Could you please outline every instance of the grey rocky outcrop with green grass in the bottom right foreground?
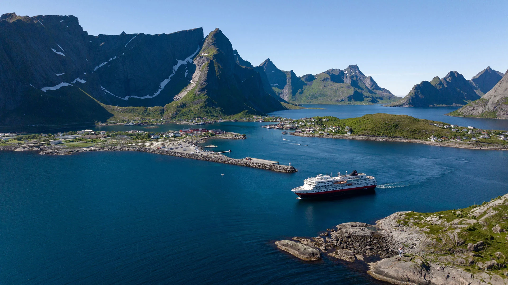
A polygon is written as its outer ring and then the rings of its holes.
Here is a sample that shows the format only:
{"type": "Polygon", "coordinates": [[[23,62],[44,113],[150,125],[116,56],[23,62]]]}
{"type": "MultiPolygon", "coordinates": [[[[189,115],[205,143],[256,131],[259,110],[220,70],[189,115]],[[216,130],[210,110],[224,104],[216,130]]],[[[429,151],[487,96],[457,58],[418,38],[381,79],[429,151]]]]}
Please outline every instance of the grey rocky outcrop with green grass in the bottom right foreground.
{"type": "Polygon", "coordinates": [[[459,210],[400,211],[375,225],[343,223],[275,244],[306,261],[363,263],[372,277],[393,284],[505,285],[507,232],[508,194],[459,210]]]}

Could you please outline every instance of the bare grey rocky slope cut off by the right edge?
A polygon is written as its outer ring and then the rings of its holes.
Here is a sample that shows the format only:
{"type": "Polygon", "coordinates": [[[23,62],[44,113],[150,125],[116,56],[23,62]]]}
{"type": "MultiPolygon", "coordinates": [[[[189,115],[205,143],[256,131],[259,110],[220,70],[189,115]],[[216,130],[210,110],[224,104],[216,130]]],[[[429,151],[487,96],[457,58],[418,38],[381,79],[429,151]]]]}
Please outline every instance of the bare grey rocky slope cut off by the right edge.
{"type": "Polygon", "coordinates": [[[448,115],[508,119],[508,70],[482,98],[470,102],[448,115]]]}

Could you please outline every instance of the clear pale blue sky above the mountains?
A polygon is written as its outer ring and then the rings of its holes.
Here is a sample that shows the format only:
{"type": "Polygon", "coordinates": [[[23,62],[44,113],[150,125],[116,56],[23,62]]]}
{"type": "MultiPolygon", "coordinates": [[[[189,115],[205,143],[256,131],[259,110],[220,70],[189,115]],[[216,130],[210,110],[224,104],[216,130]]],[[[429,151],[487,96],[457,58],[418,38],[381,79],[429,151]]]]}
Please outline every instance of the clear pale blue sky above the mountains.
{"type": "Polygon", "coordinates": [[[252,64],[270,58],[298,75],[358,64],[405,96],[457,70],[508,69],[508,1],[31,1],[0,13],[74,15],[90,34],[220,28],[252,64]]]}

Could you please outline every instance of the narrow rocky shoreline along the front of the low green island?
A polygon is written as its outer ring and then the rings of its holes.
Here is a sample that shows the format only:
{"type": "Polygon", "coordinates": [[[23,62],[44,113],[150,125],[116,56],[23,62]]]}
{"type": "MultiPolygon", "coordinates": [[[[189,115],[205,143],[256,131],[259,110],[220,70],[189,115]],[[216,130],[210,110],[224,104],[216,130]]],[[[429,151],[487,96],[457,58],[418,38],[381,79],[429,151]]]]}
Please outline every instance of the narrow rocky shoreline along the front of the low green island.
{"type": "Polygon", "coordinates": [[[312,134],[312,133],[295,133],[292,135],[306,136],[306,137],[324,137],[324,138],[342,138],[342,139],[358,139],[358,140],[376,140],[376,141],[399,141],[399,142],[416,142],[418,144],[426,144],[431,146],[440,147],[452,147],[452,148],[463,148],[463,149],[474,149],[474,150],[508,150],[508,146],[503,145],[489,145],[481,144],[478,142],[459,142],[456,140],[446,141],[432,141],[430,139],[419,139],[419,138],[395,138],[395,137],[378,137],[378,136],[355,136],[345,134],[312,134]]]}

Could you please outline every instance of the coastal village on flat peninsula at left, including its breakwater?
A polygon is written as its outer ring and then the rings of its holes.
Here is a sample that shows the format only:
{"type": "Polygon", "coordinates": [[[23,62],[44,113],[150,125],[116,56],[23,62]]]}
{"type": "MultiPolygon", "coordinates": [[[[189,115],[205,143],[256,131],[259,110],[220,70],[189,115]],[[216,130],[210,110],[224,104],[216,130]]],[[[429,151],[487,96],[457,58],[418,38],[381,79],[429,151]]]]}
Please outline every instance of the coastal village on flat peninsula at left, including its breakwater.
{"type": "MultiPolygon", "coordinates": [[[[198,120],[201,118],[197,118],[198,120]]],[[[206,119],[206,118],[204,118],[206,119]]],[[[130,125],[124,123],[123,125],[130,125]]],[[[184,122],[185,125],[204,125],[204,122],[184,122]]],[[[183,122],[180,124],[183,125],[183,122]]],[[[158,127],[152,124],[145,128],[158,127]]],[[[156,154],[208,160],[213,162],[236,164],[264,168],[280,172],[295,172],[290,165],[281,165],[278,161],[244,157],[234,159],[225,156],[231,150],[214,150],[217,146],[200,145],[209,138],[245,139],[245,134],[228,132],[221,129],[197,127],[181,128],[174,131],[150,132],[146,130],[94,131],[84,129],[68,132],[15,134],[0,133],[0,149],[13,151],[38,151],[47,155],[67,155],[90,151],[141,151],[156,154]]]]}

